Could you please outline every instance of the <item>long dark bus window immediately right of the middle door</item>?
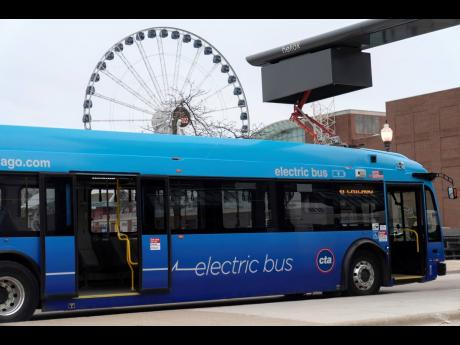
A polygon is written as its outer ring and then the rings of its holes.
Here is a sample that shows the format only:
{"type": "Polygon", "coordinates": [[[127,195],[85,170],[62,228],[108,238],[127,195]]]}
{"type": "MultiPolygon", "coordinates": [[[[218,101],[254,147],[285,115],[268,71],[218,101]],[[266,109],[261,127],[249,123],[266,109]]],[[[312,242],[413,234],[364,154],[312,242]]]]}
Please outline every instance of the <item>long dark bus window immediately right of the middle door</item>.
{"type": "Polygon", "coordinates": [[[272,227],[268,184],[231,180],[171,182],[175,233],[264,232],[272,227]]]}

